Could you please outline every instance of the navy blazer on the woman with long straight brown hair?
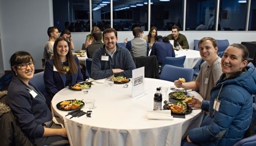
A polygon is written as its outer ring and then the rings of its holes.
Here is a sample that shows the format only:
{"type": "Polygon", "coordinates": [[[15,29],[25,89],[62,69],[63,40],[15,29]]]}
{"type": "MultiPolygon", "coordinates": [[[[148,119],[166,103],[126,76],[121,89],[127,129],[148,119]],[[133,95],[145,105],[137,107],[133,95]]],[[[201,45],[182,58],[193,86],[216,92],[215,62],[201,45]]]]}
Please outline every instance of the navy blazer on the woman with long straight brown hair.
{"type": "MultiPolygon", "coordinates": [[[[83,81],[79,60],[76,56],[74,56],[74,59],[77,63],[78,70],[76,74],[71,75],[72,76],[71,84],[75,84],[83,81]]],[[[53,98],[53,96],[59,90],[63,89],[66,85],[66,75],[60,74],[57,70],[56,71],[53,70],[53,66],[54,66],[53,64],[54,64],[53,59],[47,60],[46,66],[45,66],[45,72],[44,72],[44,81],[46,85],[46,90],[51,98],[53,98]]]]}

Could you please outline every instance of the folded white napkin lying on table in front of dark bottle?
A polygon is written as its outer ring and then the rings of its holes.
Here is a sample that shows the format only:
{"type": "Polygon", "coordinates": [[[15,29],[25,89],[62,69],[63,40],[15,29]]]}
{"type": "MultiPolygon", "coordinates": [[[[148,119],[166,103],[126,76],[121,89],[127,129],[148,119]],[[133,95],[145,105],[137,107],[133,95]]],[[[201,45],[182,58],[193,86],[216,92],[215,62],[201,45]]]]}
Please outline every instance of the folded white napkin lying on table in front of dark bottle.
{"type": "Polygon", "coordinates": [[[170,110],[154,110],[146,112],[147,119],[174,119],[170,110]]]}

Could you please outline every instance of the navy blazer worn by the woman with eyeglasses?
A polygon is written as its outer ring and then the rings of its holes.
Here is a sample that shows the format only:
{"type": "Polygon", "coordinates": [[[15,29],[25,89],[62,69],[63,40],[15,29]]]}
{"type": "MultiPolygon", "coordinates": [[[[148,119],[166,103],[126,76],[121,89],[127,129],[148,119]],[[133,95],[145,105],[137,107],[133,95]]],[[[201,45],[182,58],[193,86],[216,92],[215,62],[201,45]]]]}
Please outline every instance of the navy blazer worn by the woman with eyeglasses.
{"type": "Polygon", "coordinates": [[[50,121],[52,114],[47,107],[45,97],[36,89],[38,94],[33,98],[30,90],[25,83],[14,76],[8,88],[6,102],[17,117],[23,132],[30,138],[42,137],[44,134],[42,124],[50,121]]]}

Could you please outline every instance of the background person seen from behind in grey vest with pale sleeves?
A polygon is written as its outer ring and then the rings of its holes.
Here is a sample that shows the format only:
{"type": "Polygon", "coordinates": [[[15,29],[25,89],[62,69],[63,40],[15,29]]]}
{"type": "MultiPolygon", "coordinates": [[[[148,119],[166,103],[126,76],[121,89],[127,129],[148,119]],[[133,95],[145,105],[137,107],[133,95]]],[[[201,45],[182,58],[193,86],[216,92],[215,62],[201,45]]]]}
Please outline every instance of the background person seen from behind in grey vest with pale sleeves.
{"type": "Polygon", "coordinates": [[[130,41],[127,41],[127,38],[124,39],[124,43],[126,43],[125,47],[131,52],[132,57],[148,56],[150,46],[148,42],[142,38],[143,31],[140,27],[133,29],[133,36],[134,39],[130,41]]]}

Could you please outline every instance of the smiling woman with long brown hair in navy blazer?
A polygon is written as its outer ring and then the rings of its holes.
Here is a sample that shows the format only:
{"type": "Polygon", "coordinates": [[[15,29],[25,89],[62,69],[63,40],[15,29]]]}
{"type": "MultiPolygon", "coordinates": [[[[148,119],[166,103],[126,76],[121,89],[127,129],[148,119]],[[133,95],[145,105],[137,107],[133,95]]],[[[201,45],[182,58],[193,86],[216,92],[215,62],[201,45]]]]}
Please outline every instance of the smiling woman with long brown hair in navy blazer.
{"type": "Polygon", "coordinates": [[[79,60],[72,55],[66,38],[59,37],[55,40],[53,59],[46,62],[44,81],[50,98],[66,86],[83,81],[79,60]]]}

